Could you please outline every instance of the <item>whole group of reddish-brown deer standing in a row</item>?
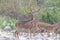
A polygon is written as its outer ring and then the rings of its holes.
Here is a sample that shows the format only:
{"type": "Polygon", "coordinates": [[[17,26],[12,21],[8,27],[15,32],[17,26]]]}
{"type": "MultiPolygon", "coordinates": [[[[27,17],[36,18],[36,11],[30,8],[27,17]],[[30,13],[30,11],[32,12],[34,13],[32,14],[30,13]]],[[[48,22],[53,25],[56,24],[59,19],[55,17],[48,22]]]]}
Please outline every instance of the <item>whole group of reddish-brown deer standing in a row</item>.
{"type": "Polygon", "coordinates": [[[41,32],[55,32],[60,33],[60,24],[48,24],[44,22],[40,22],[35,17],[33,17],[33,11],[29,13],[29,20],[26,21],[17,21],[15,35],[19,36],[20,32],[30,32],[30,33],[41,33],[41,32]]]}

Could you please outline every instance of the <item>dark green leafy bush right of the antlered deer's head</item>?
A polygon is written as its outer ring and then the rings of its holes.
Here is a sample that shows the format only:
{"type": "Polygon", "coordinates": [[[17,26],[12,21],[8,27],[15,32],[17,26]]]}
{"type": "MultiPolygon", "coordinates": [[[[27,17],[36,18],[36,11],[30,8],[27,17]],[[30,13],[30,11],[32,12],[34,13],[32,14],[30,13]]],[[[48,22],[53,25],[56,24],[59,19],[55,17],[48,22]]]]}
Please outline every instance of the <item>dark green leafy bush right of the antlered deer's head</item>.
{"type": "Polygon", "coordinates": [[[40,21],[53,24],[54,22],[60,22],[60,11],[53,7],[50,11],[45,9],[36,16],[40,21]]]}

